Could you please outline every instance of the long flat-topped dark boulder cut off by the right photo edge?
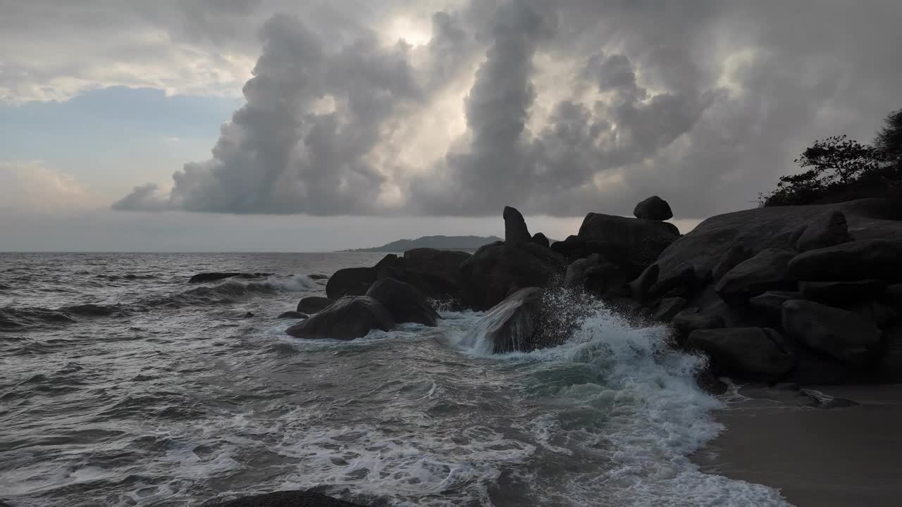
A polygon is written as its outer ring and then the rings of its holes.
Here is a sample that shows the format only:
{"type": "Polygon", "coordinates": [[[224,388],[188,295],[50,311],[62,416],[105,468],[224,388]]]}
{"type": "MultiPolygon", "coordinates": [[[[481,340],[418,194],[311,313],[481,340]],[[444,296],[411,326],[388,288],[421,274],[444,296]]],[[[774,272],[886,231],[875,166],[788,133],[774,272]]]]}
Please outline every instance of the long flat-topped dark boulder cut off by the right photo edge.
{"type": "Polygon", "coordinates": [[[789,273],[804,281],[902,281],[902,240],[861,239],[799,253],[789,273]]]}

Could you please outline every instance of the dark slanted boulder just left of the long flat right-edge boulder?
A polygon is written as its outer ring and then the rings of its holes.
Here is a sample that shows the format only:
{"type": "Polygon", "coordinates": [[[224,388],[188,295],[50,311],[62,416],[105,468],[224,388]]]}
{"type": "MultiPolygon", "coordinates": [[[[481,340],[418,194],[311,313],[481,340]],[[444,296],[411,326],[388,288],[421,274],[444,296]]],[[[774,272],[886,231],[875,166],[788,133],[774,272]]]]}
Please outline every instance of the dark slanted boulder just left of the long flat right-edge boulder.
{"type": "Polygon", "coordinates": [[[768,290],[792,285],[787,279],[787,264],[795,256],[791,250],[768,248],[723,275],[715,290],[729,304],[744,304],[768,290]]]}

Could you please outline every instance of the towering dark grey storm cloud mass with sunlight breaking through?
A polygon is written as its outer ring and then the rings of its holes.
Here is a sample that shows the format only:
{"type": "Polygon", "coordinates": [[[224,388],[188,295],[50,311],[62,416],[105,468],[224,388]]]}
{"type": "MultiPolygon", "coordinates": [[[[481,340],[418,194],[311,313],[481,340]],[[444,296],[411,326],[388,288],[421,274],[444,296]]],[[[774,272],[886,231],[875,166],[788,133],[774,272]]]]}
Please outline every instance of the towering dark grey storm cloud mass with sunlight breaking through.
{"type": "MultiPolygon", "coordinates": [[[[571,217],[658,194],[706,217],[899,107],[897,2],[474,1],[386,38],[424,8],[272,15],[211,158],[114,207],[571,217]]],[[[205,43],[244,33],[211,20],[205,43]]]]}

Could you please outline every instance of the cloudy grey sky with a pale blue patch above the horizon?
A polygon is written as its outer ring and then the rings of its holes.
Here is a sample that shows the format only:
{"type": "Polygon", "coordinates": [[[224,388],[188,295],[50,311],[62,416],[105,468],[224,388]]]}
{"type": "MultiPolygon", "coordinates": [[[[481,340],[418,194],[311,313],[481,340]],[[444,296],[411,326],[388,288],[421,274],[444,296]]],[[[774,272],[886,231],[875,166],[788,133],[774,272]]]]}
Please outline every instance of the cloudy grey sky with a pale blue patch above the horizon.
{"type": "Polygon", "coordinates": [[[330,251],[756,206],[902,107],[897,0],[0,0],[0,251],[330,251]]]}

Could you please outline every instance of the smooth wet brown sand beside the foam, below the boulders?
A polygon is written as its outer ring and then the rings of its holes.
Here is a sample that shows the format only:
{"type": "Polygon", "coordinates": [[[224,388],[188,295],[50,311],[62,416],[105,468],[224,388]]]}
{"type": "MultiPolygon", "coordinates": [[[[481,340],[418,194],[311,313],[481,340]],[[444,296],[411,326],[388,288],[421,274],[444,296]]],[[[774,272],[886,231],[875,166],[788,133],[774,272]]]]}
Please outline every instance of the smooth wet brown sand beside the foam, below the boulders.
{"type": "Polygon", "coordinates": [[[815,389],[860,405],[816,408],[795,391],[742,390],[751,399],[717,414],[726,429],[693,460],[778,488],[797,507],[902,505],[902,385],[815,389]]]}

